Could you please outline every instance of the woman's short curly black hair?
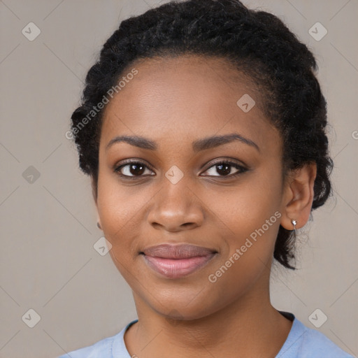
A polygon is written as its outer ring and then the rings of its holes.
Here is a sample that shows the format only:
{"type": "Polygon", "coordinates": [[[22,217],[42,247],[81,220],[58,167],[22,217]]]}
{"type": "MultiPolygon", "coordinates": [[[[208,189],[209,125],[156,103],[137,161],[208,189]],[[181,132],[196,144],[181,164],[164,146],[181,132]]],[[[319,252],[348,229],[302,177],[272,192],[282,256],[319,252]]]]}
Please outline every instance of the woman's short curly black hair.
{"type": "MultiPolygon", "coordinates": [[[[123,20],[104,43],[99,61],[87,73],[80,106],[71,116],[80,169],[92,177],[95,187],[104,110],[94,112],[96,105],[136,60],[186,54],[227,59],[252,80],[262,96],[264,115],[282,136],[282,178],[315,163],[312,210],[322,206],[331,194],[333,162],[326,136],[327,103],[315,77],[315,57],[278,17],[250,10],[239,0],[170,1],[123,20]]],[[[280,226],[273,257],[293,270],[294,243],[294,231],[280,226]]]]}

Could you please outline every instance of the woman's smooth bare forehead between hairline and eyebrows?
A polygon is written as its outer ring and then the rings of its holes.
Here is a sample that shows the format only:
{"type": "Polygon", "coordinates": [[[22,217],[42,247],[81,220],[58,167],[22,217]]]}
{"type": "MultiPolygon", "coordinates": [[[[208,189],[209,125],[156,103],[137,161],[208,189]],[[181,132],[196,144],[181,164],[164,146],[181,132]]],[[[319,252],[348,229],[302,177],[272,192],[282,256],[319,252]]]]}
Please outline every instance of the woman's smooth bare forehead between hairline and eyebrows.
{"type": "Polygon", "coordinates": [[[269,131],[275,131],[260,110],[262,99],[250,78],[224,59],[141,59],[121,78],[133,69],[138,73],[127,78],[103,113],[101,146],[120,134],[173,143],[236,131],[263,142],[269,131]],[[238,106],[241,98],[252,99],[255,105],[245,112],[238,106]]]}

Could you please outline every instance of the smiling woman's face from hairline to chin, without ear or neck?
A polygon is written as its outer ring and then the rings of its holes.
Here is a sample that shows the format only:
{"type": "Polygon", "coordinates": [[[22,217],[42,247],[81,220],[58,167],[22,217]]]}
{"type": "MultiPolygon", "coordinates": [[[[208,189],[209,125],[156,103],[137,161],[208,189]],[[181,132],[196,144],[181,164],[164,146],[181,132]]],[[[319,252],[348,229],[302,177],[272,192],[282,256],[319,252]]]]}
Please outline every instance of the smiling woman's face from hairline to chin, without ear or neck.
{"type": "Polygon", "coordinates": [[[138,73],[103,116],[96,206],[136,303],[194,319],[266,299],[284,191],[282,142],[259,110],[261,99],[223,60],[146,59],[133,67],[138,73]],[[141,140],[108,146],[117,136],[141,140]],[[182,263],[143,255],[163,243],[215,253],[182,263]]]}

